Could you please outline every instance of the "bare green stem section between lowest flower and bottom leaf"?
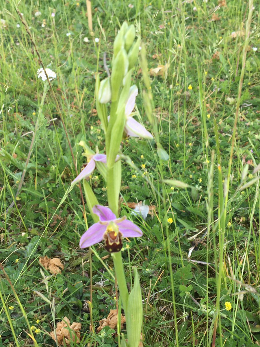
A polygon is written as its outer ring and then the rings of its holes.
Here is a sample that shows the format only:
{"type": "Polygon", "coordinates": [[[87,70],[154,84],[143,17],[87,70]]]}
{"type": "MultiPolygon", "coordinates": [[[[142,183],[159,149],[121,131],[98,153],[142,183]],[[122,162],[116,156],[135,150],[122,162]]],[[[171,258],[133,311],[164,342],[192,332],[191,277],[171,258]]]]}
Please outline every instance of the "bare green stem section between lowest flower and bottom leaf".
{"type": "Polygon", "coordinates": [[[124,276],[124,268],[123,268],[121,251],[112,253],[112,258],[114,261],[116,280],[118,281],[118,287],[119,287],[120,296],[123,303],[123,309],[124,309],[124,312],[127,312],[127,303],[128,303],[129,294],[127,289],[127,282],[125,281],[125,276],[124,276]]]}

